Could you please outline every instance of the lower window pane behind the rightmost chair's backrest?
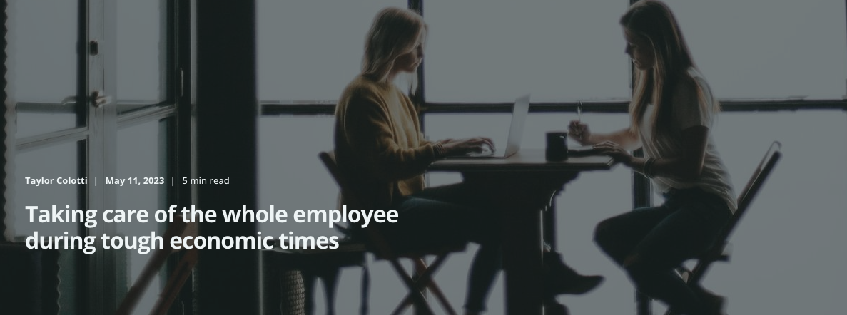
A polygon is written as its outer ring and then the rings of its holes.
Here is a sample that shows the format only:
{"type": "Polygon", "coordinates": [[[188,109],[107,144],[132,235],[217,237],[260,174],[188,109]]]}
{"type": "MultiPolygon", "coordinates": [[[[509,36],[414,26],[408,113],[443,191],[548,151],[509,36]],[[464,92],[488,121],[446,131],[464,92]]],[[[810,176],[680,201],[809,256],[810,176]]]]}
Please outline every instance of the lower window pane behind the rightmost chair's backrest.
{"type": "Polygon", "coordinates": [[[713,135],[736,191],[772,141],[783,158],[732,236],[732,261],[704,285],[729,296],[730,313],[840,312],[847,274],[833,270],[847,264],[838,250],[847,239],[847,114],[723,113],[718,123],[713,135]],[[786,128],[796,125],[804,127],[786,128]]]}

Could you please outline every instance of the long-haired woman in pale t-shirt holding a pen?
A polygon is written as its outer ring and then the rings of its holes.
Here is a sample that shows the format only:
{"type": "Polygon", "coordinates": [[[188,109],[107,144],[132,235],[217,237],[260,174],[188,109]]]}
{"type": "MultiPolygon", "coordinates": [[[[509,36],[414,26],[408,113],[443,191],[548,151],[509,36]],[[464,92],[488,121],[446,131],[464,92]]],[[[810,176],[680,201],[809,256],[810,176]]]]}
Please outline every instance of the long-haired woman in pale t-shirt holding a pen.
{"type": "Polygon", "coordinates": [[[634,3],[620,24],[636,76],[629,127],[595,134],[572,121],[568,128],[574,141],[645,174],[666,201],[607,218],[597,225],[595,242],[639,291],[677,312],[719,314],[721,296],[689,288],[673,270],[706,251],[736,208],[710,133],[719,104],[665,3],[634,3]],[[628,151],[639,147],[644,158],[628,151]]]}

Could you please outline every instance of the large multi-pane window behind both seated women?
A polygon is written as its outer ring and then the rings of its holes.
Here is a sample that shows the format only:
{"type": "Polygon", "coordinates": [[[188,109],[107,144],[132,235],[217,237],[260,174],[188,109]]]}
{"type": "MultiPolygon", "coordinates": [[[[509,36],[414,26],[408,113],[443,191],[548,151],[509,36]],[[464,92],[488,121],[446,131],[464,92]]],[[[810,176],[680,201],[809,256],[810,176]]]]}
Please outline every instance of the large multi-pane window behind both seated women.
{"type": "MultiPolygon", "coordinates": [[[[840,248],[839,240],[847,235],[833,224],[844,222],[847,201],[828,191],[847,187],[847,169],[839,166],[847,158],[844,2],[666,2],[695,62],[728,111],[713,135],[737,189],[771,141],[782,141],[785,154],[734,235],[733,262],[717,264],[706,286],[729,297],[728,312],[838,312],[839,296],[847,291],[836,284],[847,278],[832,270],[847,257],[831,249],[840,248]],[[833,145],[812,147],[817,141],[833,145]]],[[[353,9],[337,1],[332,2],[340,8],[335,11],[344,14],[327,18],[330,13],[303,8],[303,3],[260,1],[258,6],[259,98],[271,101],[263,103],[266,116],[260,130],[263,205],[335,205],[335,185],[315,157],[332,144],[332,119],[325,114],[332,113],[332,100],[358,72],[363,36],[374,14],[385,5],[406,6],[395,1],[353,9]],[[301,102],[286,107],[291,100],[301,102]],[[274,163],[280,159],[298,166],[274,163]]],[[[419,105],[430,139],[487,135],[505,140],[508,116],[501,103],[523,92],[531,92],[534,103],[523,147],[543,147],[544,131],[565,129],[575,118],[572,106],[577,101],[590,102],[583,120],[596,131],[628,124],[631,64],[617,20],[629,1],[408,3],[424,8],[429,25],[421,80],[424,103],[419,105]]],[[[430,185],[461,180],[456,174],[428,178],[430,185]]],[[[557,199],[558,247],[567,262],[585,274],[606,275],[606,283],[590,295],[560,298],[573,313],[634,312],[634,288],[591,240],[602,218],[633,207],[637,187],[632,178],[620,166],[580,174],[557,199]]],[[[470,258],[451,257],[437,275],[457,306],[464,299],[470,258]]],[[[382,301],[394,301],[399,294],[400,284],[380,267],[371,268],[372,296],[380,296],[371,300],[374,313],[390,312],[394,306],[382,301]]],[[[345,271],[340,292],[358,292],[358,276],[345,271]]],[[[501,295],[501,286],[492,291],[490,313],[503,312],[501,295]]],[[[341,293],[337,302],[339,309],[355,309],[358,297],[341,293]]],[[[659,303],[654,305],[655,312],[662,311],[659,303]]]]}

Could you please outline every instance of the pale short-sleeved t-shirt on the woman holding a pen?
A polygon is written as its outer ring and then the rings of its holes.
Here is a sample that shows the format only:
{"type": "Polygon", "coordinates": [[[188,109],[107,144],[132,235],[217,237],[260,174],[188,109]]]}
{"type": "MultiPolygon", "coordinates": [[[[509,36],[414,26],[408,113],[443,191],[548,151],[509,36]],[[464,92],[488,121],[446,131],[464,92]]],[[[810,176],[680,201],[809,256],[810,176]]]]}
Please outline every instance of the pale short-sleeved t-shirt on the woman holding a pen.
{"type": "MultiPolygon", "coordinates": [[[[668,158],[677,157],[684,150],[682,141],[682,131],[694,126],[706,126],[711,129],[714,113],[711,111],[711,90],[706,80],[702,75],[691,68],[688,71],[689,75],[694,78],[697,86],[703,91],[703,99],[697,96],[697,91],[692,90],[690,86],[679,84],[673,102],[666,104],[673,106],[673,122],[671,130],[672,135],[662,137],[662,139],[653,141],[652,139],[652,121],[656,114],[653,104],[647,106],[643,120],[639,128],[641,144],[644,147],[646,157],[668,158]],[[706,102],[706,106],[700,106],[699,102],[706,102]]],[[[738,205],[735,202],[735,192],[733,190],[732,181],[729,180],[729,174],[726,166],[723,165],[720,155],[715,148],[715,141],[711,137],[711,132],[706,142],[706,157],[703,160],[703,171],[700,178],[694,181],[678,180],[667,177],[656,176],[653,178],[653,186],[656,191],[667,192],[672,188],[686,189],[700,187],[703,191],[711,192],[717,196],[721,196],[726,200],[729,209],[735,212],[738,205]]]]}

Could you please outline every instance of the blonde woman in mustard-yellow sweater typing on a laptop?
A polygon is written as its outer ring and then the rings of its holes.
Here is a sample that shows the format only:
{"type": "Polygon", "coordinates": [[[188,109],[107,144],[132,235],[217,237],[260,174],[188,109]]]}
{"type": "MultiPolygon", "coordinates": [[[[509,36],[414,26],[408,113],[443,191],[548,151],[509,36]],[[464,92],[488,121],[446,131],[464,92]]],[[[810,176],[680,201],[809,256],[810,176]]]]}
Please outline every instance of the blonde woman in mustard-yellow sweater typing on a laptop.
{"type": "MultiPolygon", "coordinates": [[[[394,81],[398,75],[414,78],[424,58],[426,31],[424,19],[408,9],[385,8],[374,18],[362,73],[346,86],[335,108],[335,154],[340,171],[355,183],[353,193],[363,203],[358,208],[399,213],[398,222],[379,225],[391,246],[479,243],[465,303],[466,313],[478,314],[501,268],[497,205],[489,202],[491,191],[479,185],[424,189],[424,172],[439,158],[494,146],[484,137],[424,139],[416,108],[394,81]]],[[[557,279],[572,285],[562,293],[584,293],[601,280],[579,276],[561,262],[556,266],[567,271],[557,279]]]]}

